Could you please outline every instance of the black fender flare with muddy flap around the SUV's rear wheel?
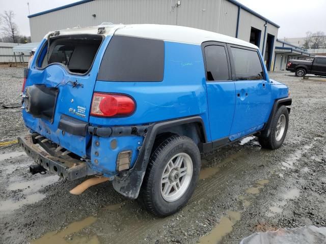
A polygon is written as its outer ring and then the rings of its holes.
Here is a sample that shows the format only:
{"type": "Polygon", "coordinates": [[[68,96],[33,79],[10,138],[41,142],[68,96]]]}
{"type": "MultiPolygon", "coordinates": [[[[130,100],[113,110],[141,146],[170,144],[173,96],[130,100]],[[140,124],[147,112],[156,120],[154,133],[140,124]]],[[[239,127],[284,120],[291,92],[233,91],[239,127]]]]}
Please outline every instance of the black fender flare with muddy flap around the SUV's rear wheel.
{"type": "Polygon", "coordinates": [[[204,139],[205,142],[207,142],[204,122],[200,116],[167,120],[149,125],[147,133],[144,134],[143,145],[140,147],[139,155],[133,167],[128,171],[122,172],[120,175],[117,175],[114,178],[113,188],[129,199],[138,198],[157,132],[159,132],[159,130],[166,129],[169,127],[191,123],[201,124],[204,131],[204,139]]]}

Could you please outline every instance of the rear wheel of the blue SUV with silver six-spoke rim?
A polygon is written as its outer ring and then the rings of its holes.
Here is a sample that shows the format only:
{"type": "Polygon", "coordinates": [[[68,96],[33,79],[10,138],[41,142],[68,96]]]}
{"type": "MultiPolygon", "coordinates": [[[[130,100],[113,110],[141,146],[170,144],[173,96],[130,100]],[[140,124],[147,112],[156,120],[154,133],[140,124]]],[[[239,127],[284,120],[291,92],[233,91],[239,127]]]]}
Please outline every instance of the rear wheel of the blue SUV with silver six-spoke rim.
{"type": "Polygon", "coordinates": [[[170,135],[162,140],[152,152],[141,189],[147,210],[158,217],[180,210],[194,193],[200,165],[200,152],[192,139],[170,135]]]}

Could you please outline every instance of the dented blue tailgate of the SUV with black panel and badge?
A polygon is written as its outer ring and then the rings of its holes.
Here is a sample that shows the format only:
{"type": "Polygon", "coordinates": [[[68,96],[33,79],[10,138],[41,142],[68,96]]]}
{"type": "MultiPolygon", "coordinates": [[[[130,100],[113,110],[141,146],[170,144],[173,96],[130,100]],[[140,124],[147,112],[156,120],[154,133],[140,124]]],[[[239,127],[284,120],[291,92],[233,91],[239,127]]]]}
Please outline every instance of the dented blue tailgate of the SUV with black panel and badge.
{"type": "Polygon", "coordinates": [[[88,124],[101,59],[97,53],[105,49],[103,40],[104,36],[95,34],[51,36],[44,40],[24,88],[25,125],[83,158],[89,157],[91,136],[59,125],[63,120],[72,121],[71,125],[88,124]]]}

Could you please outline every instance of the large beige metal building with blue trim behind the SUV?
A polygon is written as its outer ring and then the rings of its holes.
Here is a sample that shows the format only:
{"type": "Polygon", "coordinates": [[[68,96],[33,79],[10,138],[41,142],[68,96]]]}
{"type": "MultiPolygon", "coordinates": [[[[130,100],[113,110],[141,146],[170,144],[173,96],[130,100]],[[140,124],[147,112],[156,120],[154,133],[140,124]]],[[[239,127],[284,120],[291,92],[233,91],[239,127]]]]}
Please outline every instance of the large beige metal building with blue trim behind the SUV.
{"type": "Polygon", "coordinates": [[[102,22],[174,24],[236,37],[257,45],[273,70],[276,23],[234,0],[83,0],[28,16],[33,42],[49,31],[102,22]]]}

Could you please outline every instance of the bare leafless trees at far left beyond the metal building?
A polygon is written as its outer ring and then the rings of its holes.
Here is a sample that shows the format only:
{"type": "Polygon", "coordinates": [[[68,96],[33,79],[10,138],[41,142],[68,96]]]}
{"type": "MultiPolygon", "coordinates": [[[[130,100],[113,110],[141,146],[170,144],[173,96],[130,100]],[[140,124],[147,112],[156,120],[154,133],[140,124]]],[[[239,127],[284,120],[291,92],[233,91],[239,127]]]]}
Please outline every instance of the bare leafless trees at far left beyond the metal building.
{"type": "Polygon", "coordinates": [[[14,21],[15,14],[13,11],[5,11],[0,15],[0,42],[29,43],[31,37],[19,34],[19,29],[14,21]]]}

